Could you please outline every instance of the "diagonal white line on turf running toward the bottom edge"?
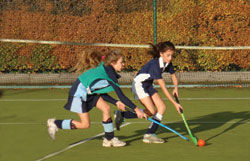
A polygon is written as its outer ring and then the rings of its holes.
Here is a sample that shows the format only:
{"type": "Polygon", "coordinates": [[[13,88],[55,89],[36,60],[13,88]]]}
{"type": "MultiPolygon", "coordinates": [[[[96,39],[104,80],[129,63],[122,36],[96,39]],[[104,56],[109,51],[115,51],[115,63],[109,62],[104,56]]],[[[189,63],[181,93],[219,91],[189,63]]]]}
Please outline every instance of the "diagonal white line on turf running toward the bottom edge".
{"type": "MultiPolygon", "coordinates": [[[[130,123],[123,124],[121,127],[127,126],[127,125],[129,125],[129,124],[130,124],[130,123]]],[[[95,138],[97,138],[97,137],[99,137],[99,136],[102,136],[102,135],[104,135],[104,132],[103,132],[103,133],[100,133],[100,134],[97,134],[97,135],[95,135],[95,136],[89,137],[89,138],[87,138],[87,139],[85,139],[85,140],[83,140],[83,141],[80,141],[80,142],[78,142],[78,143],[72,144],[72,145],[70,145],[70,146],[68,146],[68,147],[66,147],[66,148],[64,148],[64,149],[62,149],[62,150],[60,150],[60,151],[57,151],[57,152],[51,153],[51,154],[49,154],[49,155],[46,155],[46,156],[44,156],[44,157],[42,157],[42,158],[40,158],[40,159],[38,159],[38,160],[36,160],[36,161],[42,161],[42,160],[51,158],[51,157],[53,157],[53,156],[56,156],[56,155],[58,155],[58,154],[61,154],[61,153],[65,152],[65,151],[67,151],[67,150],[69,150],[69,149],[71,149],[71,148],[73,148],[73,147],[75,147],[75,146],[78,146],[78,145],[81,145],[81,144],[83,144],[83,143],[86,143],[87,141],[92,140],[92,139],[95,139],[95,138]]]]}

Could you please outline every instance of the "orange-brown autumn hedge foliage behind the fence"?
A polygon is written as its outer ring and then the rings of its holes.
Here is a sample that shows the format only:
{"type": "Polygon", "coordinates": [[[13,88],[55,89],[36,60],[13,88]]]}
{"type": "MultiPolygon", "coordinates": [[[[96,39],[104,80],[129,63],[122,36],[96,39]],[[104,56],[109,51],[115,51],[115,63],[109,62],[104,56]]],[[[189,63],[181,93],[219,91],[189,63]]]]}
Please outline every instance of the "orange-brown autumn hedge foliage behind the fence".
{"type": "MultiPolygon", "coordinates": [[[[170,40],[176,45],[193,46],[249,45],[246,36],[250,34],[249,5],[245,0],[157,2],[158,41],[170,40]]],[[[0,35],[1,38],[12,39],[147,44],[153,42],[152,5],[151,1],[142,3],[138,0],[2,2],[0,35]]],[[[10,68],[15,65],[15,69],[20,67],[22,71],[40,67],[34,65],[30,58],[31,53],[39,52],[51,54],[49,58],[53,60],[48,60],[50,69],[68,70],[77,61],[75,53],[81,52],[86,46],[50,45],[46,50],[37,50],[32,45],[10,48],[13,48],[13,54],[21,57],[18,60],[22,60],[23,65],[12,63],[12,66],[0,67],[1,71],[11,71],[10,68]],[[58,64],[51,65],[55,57],[58,64]]],[[[102,52],[110,49],[94,48],[102,52]]],[[[7,53],[5,47],[1,50],[7,53]]],[[[145,55],[146,49],[122,50],[127,69],[137,70],[151,58],[145,55]]],[[[250,69],[249,50],[178,50],[175,57],[174,63],[179,70],[231,70],[235,66],[250,69]]]]}

